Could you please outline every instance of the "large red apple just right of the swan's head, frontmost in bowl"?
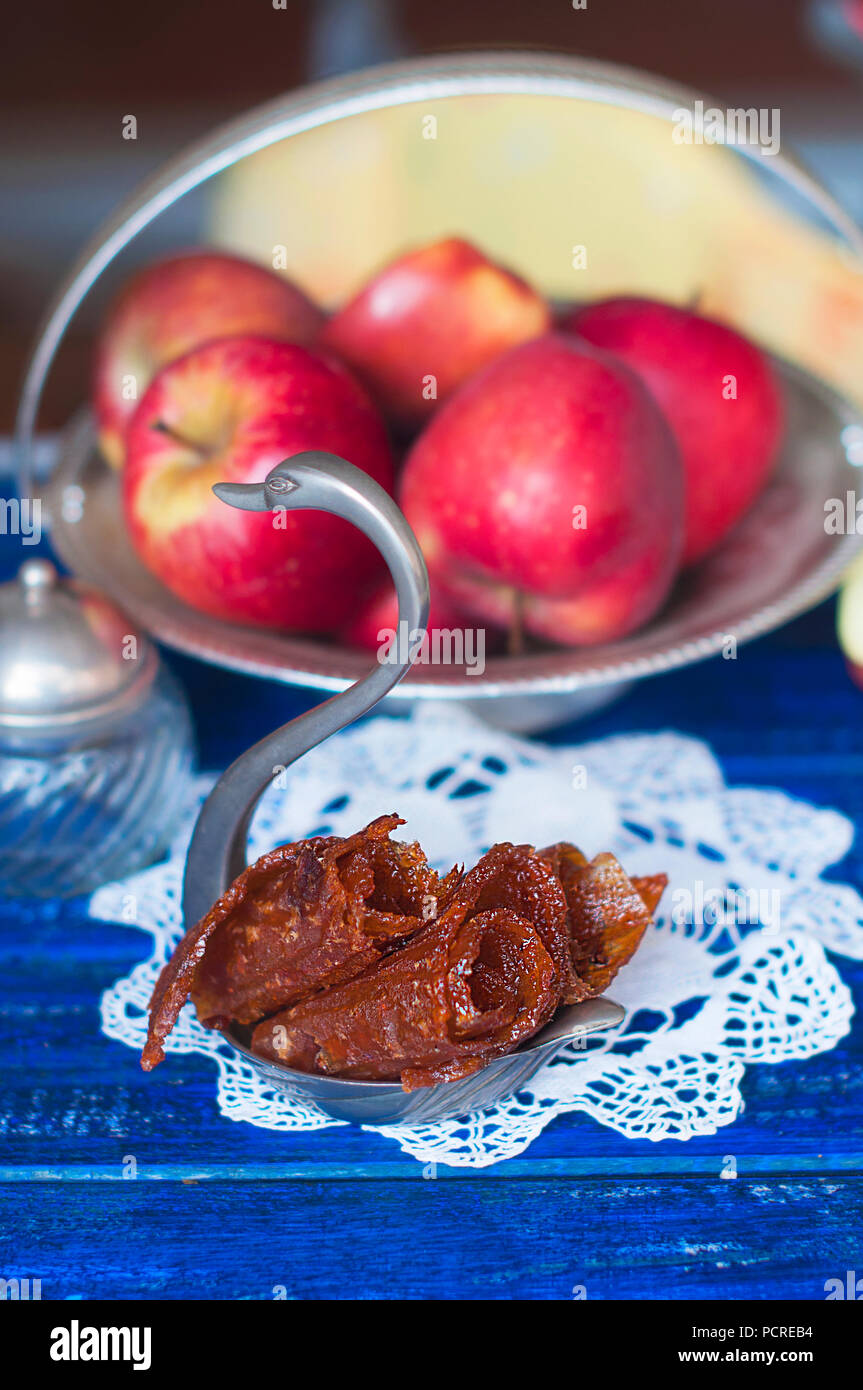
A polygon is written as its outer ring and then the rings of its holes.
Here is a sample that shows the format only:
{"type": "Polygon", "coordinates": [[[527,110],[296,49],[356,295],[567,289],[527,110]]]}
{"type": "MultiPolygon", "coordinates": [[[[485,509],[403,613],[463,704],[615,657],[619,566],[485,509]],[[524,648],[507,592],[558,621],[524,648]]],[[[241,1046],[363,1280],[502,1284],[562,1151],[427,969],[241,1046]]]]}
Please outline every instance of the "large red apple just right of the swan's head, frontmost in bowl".
{"type": "Polygon", "coordinates": [[[443,591],[500,626],[607,642],[656,613],[682,543],[682,468],[621,361],[549,334],[443,406],[413,446],[402,506],[443,591]]]}

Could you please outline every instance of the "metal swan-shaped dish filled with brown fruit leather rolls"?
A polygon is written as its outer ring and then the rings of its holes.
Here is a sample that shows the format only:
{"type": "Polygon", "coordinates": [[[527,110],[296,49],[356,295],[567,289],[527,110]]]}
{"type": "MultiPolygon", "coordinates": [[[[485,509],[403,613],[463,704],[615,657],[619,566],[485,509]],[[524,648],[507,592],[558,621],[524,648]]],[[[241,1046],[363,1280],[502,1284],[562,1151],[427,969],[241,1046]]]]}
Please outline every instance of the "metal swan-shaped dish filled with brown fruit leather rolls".
{"type": "MultiPolygon", "coordinates": [[[[246,510],[315,509],[377,545],[411,644],[428,574],[395,502],[328,453],[261,484],[217,484],[246,510]]],[[[611,855],[495,845],[439,877],[381,816],[357,834],[282,845],[247,866],[249,826],[274,774],[371,710],[410,667],[379,662],[349,689],[242,753],[207,796],[183,878],[186,933],[150,1005],[142,1065],[190,995],[268,1083],[359,1123],[418,1123],[492,1105],[624,1011],[599,995],[636,949],[664,877],[630,880],[611,855]]]]}

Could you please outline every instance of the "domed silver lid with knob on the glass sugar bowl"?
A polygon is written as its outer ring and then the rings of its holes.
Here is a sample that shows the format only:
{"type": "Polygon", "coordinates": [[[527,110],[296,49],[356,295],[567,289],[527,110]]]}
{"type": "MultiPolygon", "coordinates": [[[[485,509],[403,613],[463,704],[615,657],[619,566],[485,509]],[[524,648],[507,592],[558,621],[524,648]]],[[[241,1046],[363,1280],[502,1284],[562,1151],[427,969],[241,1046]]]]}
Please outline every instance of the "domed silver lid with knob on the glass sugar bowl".
{"type": "Polygon", "coordinates": [[[158,666],[145,634],[97,589],[25,560],[0,585],[0,730],[46,733],[139,703],[158,666]]]}

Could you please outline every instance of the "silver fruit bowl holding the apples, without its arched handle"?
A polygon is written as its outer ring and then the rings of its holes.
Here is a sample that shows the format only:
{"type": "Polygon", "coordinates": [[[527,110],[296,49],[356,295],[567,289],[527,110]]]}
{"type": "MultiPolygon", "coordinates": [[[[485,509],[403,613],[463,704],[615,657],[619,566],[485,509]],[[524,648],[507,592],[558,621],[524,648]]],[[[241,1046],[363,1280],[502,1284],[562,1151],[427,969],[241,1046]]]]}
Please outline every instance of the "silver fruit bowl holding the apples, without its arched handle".
{"type": "MultiPolygon", "coordinates": [[[[785,366],[781,374],[788,431],[773,481],[723,545],[680,578],[648,627],[602,648],[491,656],[478,676],[457,666],[414,666],[386,699],[457,699],[500,727],[536,730],[591,713],[642,676],[769,632],[827,598],[863,543],[824,528],[827,499],[859,486],[852,459],[863,424],[800,370],[785,366]]],[[[49,509],[53,543],[69,570],[108,592],[168,646],[317,691],[345,689],[367,670],[363,652],[225,623],[176,599],[129,546],[118,477],[94,448],[88,416],[64,438],[49,509]]]]}

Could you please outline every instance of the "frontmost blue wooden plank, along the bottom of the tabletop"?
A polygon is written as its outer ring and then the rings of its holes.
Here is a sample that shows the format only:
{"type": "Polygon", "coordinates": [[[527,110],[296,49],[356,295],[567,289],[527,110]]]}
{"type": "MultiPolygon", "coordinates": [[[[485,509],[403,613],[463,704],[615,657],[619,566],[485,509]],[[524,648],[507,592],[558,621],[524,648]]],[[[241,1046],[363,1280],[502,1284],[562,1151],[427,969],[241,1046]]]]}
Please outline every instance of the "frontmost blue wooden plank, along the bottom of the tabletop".
{"type": "Polygon", "coordinates": [[[823,1300],[863,1182],[58,1183],[0,1188],[6,1277],[68,1298],[823,1300]]]}

